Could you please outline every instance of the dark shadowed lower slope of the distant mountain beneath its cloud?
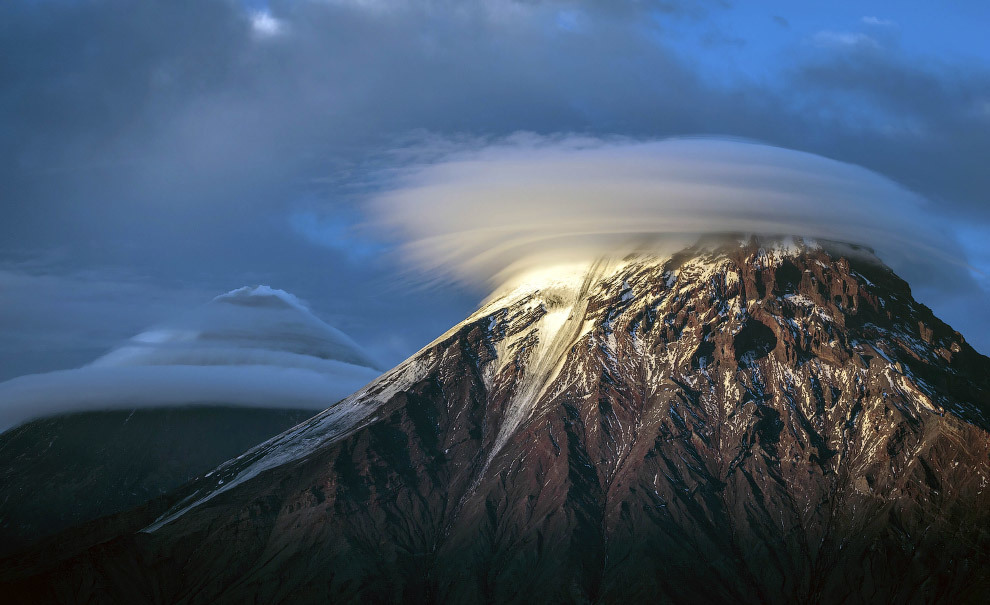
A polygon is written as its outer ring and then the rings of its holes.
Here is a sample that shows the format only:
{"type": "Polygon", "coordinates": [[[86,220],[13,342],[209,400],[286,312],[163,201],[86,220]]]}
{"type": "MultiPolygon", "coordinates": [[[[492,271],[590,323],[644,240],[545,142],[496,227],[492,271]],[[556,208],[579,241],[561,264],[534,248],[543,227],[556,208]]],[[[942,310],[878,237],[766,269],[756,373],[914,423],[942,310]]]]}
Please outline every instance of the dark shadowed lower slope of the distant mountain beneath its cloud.
{"type": "Polygon", "coordinates": [[[162,496],[313,415],[156,408],[63,414],[0,435],[0,555],[162,496]]]}

